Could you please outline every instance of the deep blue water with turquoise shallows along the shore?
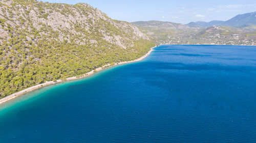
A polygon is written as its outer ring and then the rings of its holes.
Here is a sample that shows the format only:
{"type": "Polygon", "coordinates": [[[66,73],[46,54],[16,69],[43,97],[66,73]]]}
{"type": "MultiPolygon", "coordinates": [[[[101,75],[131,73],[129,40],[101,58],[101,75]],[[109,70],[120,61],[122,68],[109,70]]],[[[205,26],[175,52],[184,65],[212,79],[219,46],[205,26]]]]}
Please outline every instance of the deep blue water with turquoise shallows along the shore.
{"type": "Polygon", "coordinates": [[[256,47],[163,45],[0,106],[0,142],[256,142],[256,47]]]}

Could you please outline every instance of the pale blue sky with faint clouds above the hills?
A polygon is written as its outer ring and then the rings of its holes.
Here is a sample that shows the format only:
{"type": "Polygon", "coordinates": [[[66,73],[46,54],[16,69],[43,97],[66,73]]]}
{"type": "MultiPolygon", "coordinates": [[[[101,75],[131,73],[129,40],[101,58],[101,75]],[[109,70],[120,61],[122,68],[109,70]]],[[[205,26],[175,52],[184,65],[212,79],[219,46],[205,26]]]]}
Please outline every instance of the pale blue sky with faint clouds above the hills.
{"type": "Polygon", "coordinates": [[[111,18],[128,22],[160,20],[186,24],[190,21],[228,20],[238,14],[256,11],[255,0],[43,0],[50,3],[87,3],[111,18]]]}

